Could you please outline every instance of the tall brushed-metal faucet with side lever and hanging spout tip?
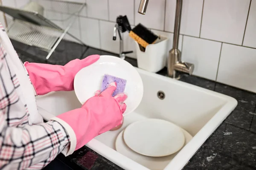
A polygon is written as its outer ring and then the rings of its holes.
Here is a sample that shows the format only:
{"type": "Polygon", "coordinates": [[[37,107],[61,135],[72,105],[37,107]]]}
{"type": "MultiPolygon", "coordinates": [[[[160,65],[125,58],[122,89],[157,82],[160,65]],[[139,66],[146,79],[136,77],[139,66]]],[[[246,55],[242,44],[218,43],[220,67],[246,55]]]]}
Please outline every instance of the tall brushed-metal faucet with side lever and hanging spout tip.
{"type": "MultiPolygon", "coordinates": [[[[149,0],[140,0],[140,6],[138,13],[145,14],[148,6],[149,0]]],[[[176,1],[176,12],[175,12],[175,25],[174,25],[174,36],[173,36],[173,45],[172,49],[169,51],[168,65],[167,65],[167,74],[172,78],[179,78],[176,71],[181,71],[184,73],[192,74],[194,71],[194,64],[189,62],[183,62],[181,60],[181,52],[178,49],[179,37],[180,37],[180,19],[181,19],[181,10],[182,10],[182,1],[176,1]]]]}

